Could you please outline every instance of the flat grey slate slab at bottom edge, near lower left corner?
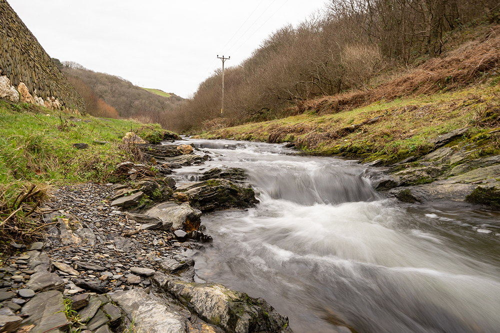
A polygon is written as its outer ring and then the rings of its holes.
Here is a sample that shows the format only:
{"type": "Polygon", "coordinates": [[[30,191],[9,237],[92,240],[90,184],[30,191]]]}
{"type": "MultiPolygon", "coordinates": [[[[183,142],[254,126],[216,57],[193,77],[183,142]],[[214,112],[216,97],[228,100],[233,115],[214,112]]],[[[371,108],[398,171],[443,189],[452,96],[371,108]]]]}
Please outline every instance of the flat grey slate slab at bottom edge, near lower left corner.
{"type": "Polygon", "coordinates": [[[49,332],[55,327],[65,331],[67,319],[64,315],[62,294],[58,291],[49,291],[35,295],[24,307],[21,313],[28,317],[22,325],[36,325],[30,333],[49,332]]]}

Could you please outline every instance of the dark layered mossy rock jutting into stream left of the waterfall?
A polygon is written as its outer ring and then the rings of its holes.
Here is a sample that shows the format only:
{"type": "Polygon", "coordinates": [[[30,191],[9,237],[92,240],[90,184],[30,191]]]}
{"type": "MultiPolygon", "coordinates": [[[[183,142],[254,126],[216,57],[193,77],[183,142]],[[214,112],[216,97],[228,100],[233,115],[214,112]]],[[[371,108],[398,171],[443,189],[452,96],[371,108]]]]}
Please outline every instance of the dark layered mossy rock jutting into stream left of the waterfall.
{"type": "Polygon", "coordinates": [[[226,179],[190,183],[177,187],[176,191],[186,194],[191,206],[202,212],[233,207],[249,208],[258,203],[251,188],[234,185],[226,179]]]}

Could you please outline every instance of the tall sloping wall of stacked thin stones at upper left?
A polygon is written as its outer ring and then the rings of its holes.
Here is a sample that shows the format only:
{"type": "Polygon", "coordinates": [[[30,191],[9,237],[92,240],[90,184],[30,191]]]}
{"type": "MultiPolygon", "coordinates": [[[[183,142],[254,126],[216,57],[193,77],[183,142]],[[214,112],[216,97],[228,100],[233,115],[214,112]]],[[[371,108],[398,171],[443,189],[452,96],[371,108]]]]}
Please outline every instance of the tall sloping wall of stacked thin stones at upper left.
{"type": "Polygon", "coordinates": [[[85,102],[52,62],[14,10],[0,0],[0,70],[14,87],[24,82],[31,95],[55,97],[64,109],[85,111],[85,102]]]}

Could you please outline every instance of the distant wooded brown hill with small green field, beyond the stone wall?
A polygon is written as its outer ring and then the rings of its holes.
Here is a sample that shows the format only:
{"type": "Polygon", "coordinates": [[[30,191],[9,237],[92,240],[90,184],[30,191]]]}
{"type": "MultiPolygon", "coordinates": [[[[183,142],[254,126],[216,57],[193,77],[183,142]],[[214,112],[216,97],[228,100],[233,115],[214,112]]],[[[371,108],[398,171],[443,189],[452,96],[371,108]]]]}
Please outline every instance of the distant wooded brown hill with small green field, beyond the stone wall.
{"type": "MultiPolygon", "coordinates": [[[[84,82],[98,98],[115,108],[120,118],[159,123],[166,128],[169,127],[171,111],[184,102],[182,97],[173,93],[143,89],[122,77],[94,72],[74,62],[63,61],[61,70],[72,83],[74,78],[84,82]]],[[[78,86],[75,88],[81,90],[78,86]]],[[[84,97],[83,93],[80,94],[84,97]]]]}

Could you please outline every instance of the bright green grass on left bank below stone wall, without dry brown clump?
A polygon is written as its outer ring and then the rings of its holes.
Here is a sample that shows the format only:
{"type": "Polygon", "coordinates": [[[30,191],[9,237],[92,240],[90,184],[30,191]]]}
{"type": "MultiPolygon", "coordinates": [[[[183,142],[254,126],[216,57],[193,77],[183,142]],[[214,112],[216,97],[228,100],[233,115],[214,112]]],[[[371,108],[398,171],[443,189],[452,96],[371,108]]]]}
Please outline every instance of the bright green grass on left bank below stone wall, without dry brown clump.
{"type": "Polygon", "coordinates": [[[134,160],[133,151],[121,144],[126,132],[145,137],[161,131],[159,125],[146,128],[130,120],[79,118],[33,105],[0,102],[0,187],[106,181],[116,164],[134,160]],[[74,148],[72,144],[78,142],[89,147],[74,148]]]}

